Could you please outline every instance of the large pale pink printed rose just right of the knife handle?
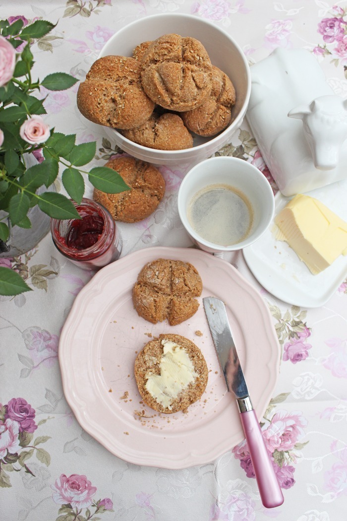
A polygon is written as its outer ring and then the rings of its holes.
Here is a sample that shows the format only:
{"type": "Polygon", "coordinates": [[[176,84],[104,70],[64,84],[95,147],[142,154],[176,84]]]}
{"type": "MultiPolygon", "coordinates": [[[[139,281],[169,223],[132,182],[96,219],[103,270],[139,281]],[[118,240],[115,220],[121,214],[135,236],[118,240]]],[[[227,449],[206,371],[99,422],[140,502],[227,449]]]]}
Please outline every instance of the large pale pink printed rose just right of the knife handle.
{"type": "Polygon", "coordinates": [[[303,427],[307,420],[298,411],[278,411],[271,420],[267,429],[263,430],[263,437],[269,452],[290,451],[295,443],[304,435],[303,427]]]}

